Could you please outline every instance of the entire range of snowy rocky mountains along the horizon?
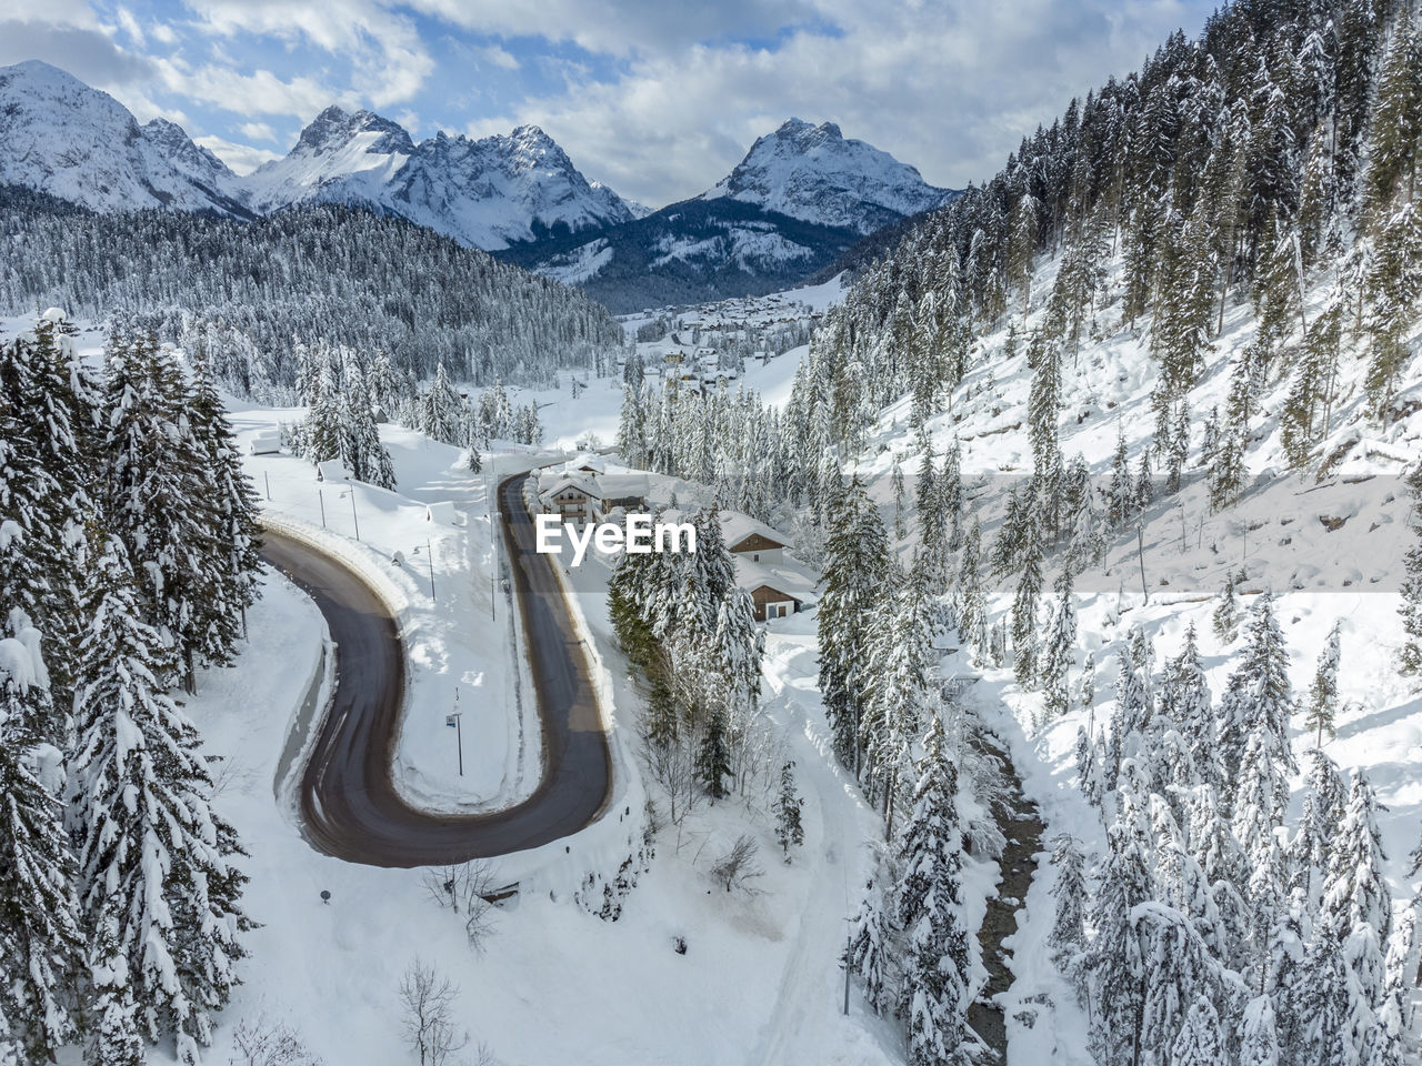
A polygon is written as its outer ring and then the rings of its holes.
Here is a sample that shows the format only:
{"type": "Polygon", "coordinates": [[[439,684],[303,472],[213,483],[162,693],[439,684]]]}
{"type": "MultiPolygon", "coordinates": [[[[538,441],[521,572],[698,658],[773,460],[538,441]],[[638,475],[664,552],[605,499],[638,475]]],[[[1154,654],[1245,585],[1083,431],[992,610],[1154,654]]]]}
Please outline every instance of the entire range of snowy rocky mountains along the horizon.
{"type": "Polygon", "coordinates": [[[181,126],[141,125],[107,92],[38,61],[0,67],[0,183],[91,210],[250,219],[301,203],[368,208],[582,286],[614,311],[796,284],[956,195],[832,122],[796,118],[711,189],[660,210],[584,178],[538,126],[417,142],[388,118],[340,107],[243,176],[181,126]]]}

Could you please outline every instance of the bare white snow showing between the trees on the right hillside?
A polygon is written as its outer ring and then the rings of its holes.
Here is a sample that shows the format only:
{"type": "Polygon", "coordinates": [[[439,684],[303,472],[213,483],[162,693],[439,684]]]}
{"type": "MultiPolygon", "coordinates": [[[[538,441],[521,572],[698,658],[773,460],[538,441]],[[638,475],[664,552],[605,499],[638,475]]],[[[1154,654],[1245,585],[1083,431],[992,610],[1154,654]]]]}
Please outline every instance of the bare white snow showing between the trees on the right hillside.
{"type": "MultiPolygon", "coordinates": [[[[1041,263],[1032,279],[1037,301],[1045,298],[1057,264],[1041,263]]],[[[1111,273],[1112,296],[1098,313],[1099,334],[1084,338],[1079,360],[1068,351],[1062,365],[1062,409],[1058,419],[1061,449],[1066,461],[1081,455],[1102,492],[1111,478],[1118,435],[1128,446],[1130,470],[1152,439],[1155,412],[1150,391],[1155,364],[1149,337],[1119,324],[1121,264],[1111,273]]],[[[1325,297],[1324,279],[1310,293],[1305,316],[1311,320],[1325,297]]],[[[929,421],[929,438],[939,465],[954,441],[961,445],[964,480],[968,485],[970,517],[983,523],[984,549],[990,547],[1003,517],[1007,490],[1030,473],[1032,451],[1028,442],[1028,392],[1031,371],[1025,361],[1028,330],[1037,324],[1037,307],[1024,324],[1014,316],[1017,354],[1004,357],[1005,327],[973,345],[973,364],[956,389],[948,411],[929,421]]],[[[1193,412],[1192,456],[1186,486],[1163,493],[1146,509],[1138,539],[1135,526],[1112,534],[1105,563],[1075,581],[1078,647],[1075,667],[1086,651],[1096,665],[1095,708],[1072,714],[1034,733],[1041,711],[1041,694],[1022,692],[1011,669],[985,671],[973,688],[974,701],[995,732],[1008,742],[1024,777],[1027,793],[1041,806],[1047,836],[1072,833],[1099,854],[1103,831],[1075,782],[1074,745],[1076,729],[1094,719],[1099,726],[1113,706],[1113,687],[1126,632],[1142,625],[1155,642],[1158,669],[1166,657],[1177,654],[1185,630],[1194,624],[1216,699],[1234,668],[1239,642],[1220,648],[1210,631],[1214,596],[1229,573],[1243,570],[1240,605],[1249,610],[1253,593],[1268,590],[1290,647],[1291,681],[1295,696],[1307,694],[1314,667],[1335,621],[1342,623],[1342,661],[1338,674],[1338,736],[1325,738],[1324,750],[1345,773],[1362,772],[1386,807],[1379,814],[1386,873],[1395,907],[1401,910],[1419,888],[1408,878],[1408,853],[1422,831],[1422,694],[1396,674],[1396,650],[1402,642],[1398,588],[1402,560],[1416,543],[1409,527],[1411,496],[1402,475],[1422,458],[1422,414],[1411,414],[1388,426],[1368,416],[1362,385],[1367,361],[1345,350],[1340,362],[1338,399],[1331,432],[1321,453],[1334,456],[1325,476],[1314,472],[1283,475],[1287,469],[1280,441],[1280,414],[1290,382],[1280,381],[1264,391],[1246,451],[1249,485],[1239,503],[1214,513],[1209,506],[1200,453],[1199,426],[1212,408],[1223,418],[1233,360],[1254,340],[1251,308],[1231,303],[1214,350],[1207,355],[1200,384],[1189,397],[1193,412]],[[1142,570],[1145,576],[1142,577],[1142,570]]],[[[1295,337],[1297,340],[1297,337],[1295,337]]],[[[1418,394],[1419,368],[1409,371],[1398,389],[1399,398],[1418,394]]],[[[859,456],[856,469],[887,523],[893,519],[890,472],[902,465],[909,507],[913,507],[919,449],[909,426],[910,404],[904,398],[887,408],[859,456]]],[[[1160,472],[1156,472],[1158,482],[1160,472]]],[[[917,543],[916,523],[907,520],[909,537],[899,544],[903,561],[917,543]]],[[[1051,598],[1054,561],[1047,560],[1045,601],[1051,598]]],[[[993,590],[990,620],[1005,618],[1012,607],[1015,574],[993,590]]],[[[963,664],[966,668],[966,664],[963,664]]],[[[1072,672],[1075,684],[1076,669],[1072,672]]],[[[1295,718],[1295,726],[1298,719],[1295,718]]],[[[1295,756],[1314,743],[1295,729],[1295,756]]],[[[1307,766],[1304,766],[1307,769],[1307,766]]],[[[1294,780],[1290,829],[1303,802],[1303,776],[1294,780]]],[[[1086,1019],[1074,994],[1055,972],[1045,944],[1054,901],[1049,890],[1055,871],[1042,854],[1028,895],[1020,931],[1008,940],[1015,952],[1018,975],[1007,996],[1014,1066],[1044,1060],[1086,1066],[1086,1019]],[[1044,1009],[1041,996],[1054,1008],[1044,1009]],[[1035,1001],[1035,1002],[1034,1002],[1035,1001]],[[1034,1018],[1032,1028],[1017,1016],[1034,1018]]]]}

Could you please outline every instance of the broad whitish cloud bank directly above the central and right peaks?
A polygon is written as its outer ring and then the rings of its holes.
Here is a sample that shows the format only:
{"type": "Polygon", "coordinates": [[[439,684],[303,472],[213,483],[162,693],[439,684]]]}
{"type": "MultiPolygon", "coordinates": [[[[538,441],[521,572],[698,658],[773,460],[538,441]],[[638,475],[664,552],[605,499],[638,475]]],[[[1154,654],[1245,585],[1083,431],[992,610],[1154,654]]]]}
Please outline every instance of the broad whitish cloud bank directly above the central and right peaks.
{"type": "Polygon", "coordinates": [[[927,181],[963,186],[991,176],[1072,95],[1138,67],[1192,18],[1169,0],[829,3],[839,33],[795,31],[774,50],[693,45],[640,57],[613,81],[576,81],[474,128],[536,122],[584,173],[650,203],[708,188],[789,115],[832,119],[927,181]]]}

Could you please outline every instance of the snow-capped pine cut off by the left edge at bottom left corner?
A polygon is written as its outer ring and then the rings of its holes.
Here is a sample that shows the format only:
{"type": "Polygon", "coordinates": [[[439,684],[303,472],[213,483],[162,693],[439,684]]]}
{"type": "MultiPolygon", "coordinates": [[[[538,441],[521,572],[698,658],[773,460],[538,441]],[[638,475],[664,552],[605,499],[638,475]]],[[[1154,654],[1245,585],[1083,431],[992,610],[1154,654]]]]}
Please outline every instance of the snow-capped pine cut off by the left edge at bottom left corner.
{"type": "Polygon", "coordinates": [[[0,1062],[53,1060],[73,1039],[70,991],[82,958],[64,812],[41,780],[57,752],[38,647],[0,640],[0,1062]]]}

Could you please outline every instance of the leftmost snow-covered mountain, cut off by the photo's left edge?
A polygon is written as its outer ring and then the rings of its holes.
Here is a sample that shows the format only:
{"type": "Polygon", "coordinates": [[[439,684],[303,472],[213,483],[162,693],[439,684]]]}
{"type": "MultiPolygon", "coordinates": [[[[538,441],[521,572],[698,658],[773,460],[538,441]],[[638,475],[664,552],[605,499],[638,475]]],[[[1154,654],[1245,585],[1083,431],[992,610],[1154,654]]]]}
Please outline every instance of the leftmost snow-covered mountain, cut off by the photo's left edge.
{"type": "Polygon", "coordinates": [[[176,125],[139,125],[107,92],[34,60],[0,67],[0,183],[92,210],[249,215],[242,179],[176,125]]]}

